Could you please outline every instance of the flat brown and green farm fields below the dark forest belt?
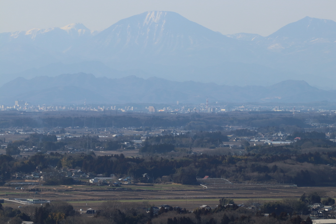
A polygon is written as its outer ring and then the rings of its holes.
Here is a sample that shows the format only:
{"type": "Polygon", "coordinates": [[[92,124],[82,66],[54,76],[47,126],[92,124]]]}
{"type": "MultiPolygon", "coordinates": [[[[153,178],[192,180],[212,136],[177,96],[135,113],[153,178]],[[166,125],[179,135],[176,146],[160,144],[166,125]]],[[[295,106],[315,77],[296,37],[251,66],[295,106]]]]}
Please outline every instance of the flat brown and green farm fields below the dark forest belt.
{"type": "MultiPolygon", "coordinates": [[[[40,198],[51,201],[62,200],[72,204],[77,210],[99,209],[107,200],[117,200],[122,205],[168,204],[193,210],[201,205],[216,206],[221,197],[233,198],[237,204],[247,203],[249,199],[260,203],[283,198],[300,197],[304,192],[323,191],[330,197],[336,197],[336,187],[297,187],[297,188],[226,188],[204,189],[199,185],[155,184],[154,186],[127,186],[116,190],[108,186],[38,186],[42,191],[26,192],[13,187],[0,187],[0,197],[40,198]]],[[[5,201],[5,206],[17,207],[19,204],[5,201]]]]}

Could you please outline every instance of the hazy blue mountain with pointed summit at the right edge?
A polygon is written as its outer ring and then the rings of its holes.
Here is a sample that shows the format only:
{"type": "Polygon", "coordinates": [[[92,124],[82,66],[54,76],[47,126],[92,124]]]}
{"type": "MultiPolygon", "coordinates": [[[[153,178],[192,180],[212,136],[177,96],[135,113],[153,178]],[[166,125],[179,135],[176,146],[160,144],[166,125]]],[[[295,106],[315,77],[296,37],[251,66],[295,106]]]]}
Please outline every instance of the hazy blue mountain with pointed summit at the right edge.
{"type": "Polygon", "coordinates": [[[333,20],[306,16],[267,37],[245,33],[226,36],[250,43],[255,49],[267,50],[266,54],[259,54],[257,63],[297,74],[318,75],[317,79],[308,77],[311,83],[336,81],[336,22],[333,20]]]}

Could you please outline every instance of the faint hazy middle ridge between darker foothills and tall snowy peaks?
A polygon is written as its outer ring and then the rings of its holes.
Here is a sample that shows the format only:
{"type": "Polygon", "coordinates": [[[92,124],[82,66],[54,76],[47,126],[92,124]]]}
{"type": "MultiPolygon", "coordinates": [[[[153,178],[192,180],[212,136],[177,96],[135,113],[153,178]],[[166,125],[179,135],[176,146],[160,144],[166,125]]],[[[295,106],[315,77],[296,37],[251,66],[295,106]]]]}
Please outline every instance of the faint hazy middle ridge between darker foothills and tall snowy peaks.
{"type": "MultiPolygon", "coordinates": [[[[129,68],[124,71],[111,69],[100,61],[85,61],[79,63],[51,63],[38,69],[33,68],[14,74],[0,75],[0,86],[18,78],[32,79],[36,76],[57,76],[60,74],[92,73],[96,77],[121,78],[134,75],[139,78],[147,79],[152,76],[164,78],[172,81],[196,81],[202,83],[215,82],[225,85],[272,85],[284,79],[293,77],[291,73],[284,73],[263,65],[249,64],[241,62],[222,62],[216,65],[206,66],[147,66],[139,65],[140,69],[129,68]],[[161,71],[158,72],[158,69],[161,71]],[[184,75],[181,75],[184,74],[184,75]],[[207,74],[207,75],[205,75],[207,74]],[[210,74],[210,75],[208,75],[210,74]]],[[[306,77],[302,77],[306,78],[306,77]]]]}

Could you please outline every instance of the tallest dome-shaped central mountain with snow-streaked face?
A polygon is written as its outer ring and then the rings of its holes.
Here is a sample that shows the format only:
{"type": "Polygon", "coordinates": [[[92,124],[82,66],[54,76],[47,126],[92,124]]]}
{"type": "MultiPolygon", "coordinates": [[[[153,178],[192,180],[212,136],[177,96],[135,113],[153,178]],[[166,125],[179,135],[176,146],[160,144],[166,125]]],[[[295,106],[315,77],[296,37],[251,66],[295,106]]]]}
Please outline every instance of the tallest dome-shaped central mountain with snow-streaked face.
{"type": "Polygon", "coordinates": [[[106,63],[204,64],[249,54],[238,41],[168,11],[122,19],[73,50],[106,63]]]}

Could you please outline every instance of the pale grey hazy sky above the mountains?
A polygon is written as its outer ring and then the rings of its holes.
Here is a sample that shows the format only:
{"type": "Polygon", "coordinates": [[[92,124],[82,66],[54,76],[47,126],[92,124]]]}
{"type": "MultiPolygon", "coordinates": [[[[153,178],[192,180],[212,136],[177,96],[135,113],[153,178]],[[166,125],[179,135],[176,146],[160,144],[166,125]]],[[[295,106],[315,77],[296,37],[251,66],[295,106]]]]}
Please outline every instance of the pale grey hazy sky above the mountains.
{"type": "Polygon", "coordinates": [[[336,21],[336,0],[0,0],[0,33],[83,23],[106,29],[150,10],[174,11],[222,34],[267,36],[305,16],[336,21]]]}

